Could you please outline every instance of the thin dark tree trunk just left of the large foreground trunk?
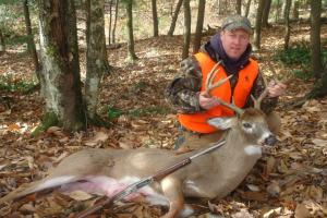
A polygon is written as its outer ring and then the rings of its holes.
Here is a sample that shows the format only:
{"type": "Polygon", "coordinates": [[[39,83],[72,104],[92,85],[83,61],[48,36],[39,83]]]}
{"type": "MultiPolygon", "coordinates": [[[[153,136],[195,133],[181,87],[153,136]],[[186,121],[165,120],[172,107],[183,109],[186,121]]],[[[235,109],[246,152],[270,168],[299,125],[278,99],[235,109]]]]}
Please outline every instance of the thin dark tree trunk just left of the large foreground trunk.
{"type": "Polygon", "coordinates": [[[35,74],[39,81],[39,71],[40,65],[37,58],[36,47],[34,43],[34,36],[32,33],[32,25],[31,25],[31,17],[29,17],[29,10],[28,10],[28,0],[23,1],[23,8],[24,8],[24,16],[25,16],[25,25],[26,25],[26,35],[27,35],[27,50],[31,55],[34,63],[35,74]]]}

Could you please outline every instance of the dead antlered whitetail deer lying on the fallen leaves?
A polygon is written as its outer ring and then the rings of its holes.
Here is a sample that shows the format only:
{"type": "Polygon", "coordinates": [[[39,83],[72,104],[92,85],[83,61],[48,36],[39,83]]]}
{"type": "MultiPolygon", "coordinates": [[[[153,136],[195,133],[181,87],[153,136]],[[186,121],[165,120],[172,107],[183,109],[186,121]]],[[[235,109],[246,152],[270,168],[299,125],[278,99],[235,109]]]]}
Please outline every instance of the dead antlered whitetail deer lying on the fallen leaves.
{"type": "MultiPolygon", "coordinates": [[[[169,206],[168,213],[162,217],[172,218],[182,216],[186,208],[184,197],[220,198],[242,182],[261,158],[262,146],[274,145],[276,137],[268,130],[265,114],[258,108],[259,101],[255,108],[244,110],[233,104],[221,104],[238,113],[237,117],[214,118],[208,121],[220,130],[228,130],[223,136],[226,144],[194,159],[191,165],[168,174],[161,181],[138,190],[128,201],[143,196],[150,204],[169,206]]],[[[81,150],[64,158],[45,179],[22,185],[0,198],[0,204],[55,187],[65,192],[83,190],[110,197],[129,184],[208,146],[210,145],[182,155],[153,148],[81,150]]]]}

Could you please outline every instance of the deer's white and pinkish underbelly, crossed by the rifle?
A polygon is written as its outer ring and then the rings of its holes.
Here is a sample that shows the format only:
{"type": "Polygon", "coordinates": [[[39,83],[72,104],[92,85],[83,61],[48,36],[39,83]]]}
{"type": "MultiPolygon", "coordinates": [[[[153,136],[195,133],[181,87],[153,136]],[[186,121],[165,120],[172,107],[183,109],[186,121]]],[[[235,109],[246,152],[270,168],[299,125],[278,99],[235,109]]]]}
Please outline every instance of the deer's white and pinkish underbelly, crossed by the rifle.
{"type": "MultiPolygon", "coordinates": [[[[114,194],[137,181],[140,181],[140,179],[136,177],[125,177],[121,180],[109,177],[87,177],[76,182],[61,185],[60,191],[70,193],[78,190],[90,194],[112,197],[114,194]]],[[[136,198],[143,198],[145,202],[148,202],[153,205],[169,205],[167,198],[150,186],[144,186],[136,192],[131,193],[123,199],[132,202],[136,198]]]]}

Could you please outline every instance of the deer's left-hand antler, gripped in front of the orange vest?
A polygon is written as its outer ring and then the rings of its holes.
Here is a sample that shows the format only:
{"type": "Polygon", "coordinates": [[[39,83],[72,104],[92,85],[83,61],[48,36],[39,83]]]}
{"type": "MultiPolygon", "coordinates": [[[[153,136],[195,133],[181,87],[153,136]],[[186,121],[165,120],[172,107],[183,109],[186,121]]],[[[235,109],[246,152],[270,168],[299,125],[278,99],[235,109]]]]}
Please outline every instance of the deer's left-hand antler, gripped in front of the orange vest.
{"type": "MultiPolygon", "coordinates": [[[[221,60],[218,61],[214,68],[211,69],[211,71],[208,73],[207,80],[206,80],[206,90],[205,90],[205,95],[211,96],[210,92],[216,88],[219,87],[220,85],[222,85],[223,83],[226,83],[227,81],[229,81],[233,74],[227,76],[226,78],[222,78],[220,81],[218,81],[217,83],[214,83],[214,78],[216,76],[216,74],[219,72],[220,69],[217,70],[218,65],[221,63],[221,60]]],[[[234,105],[234,99],[232,99],[232,104],[228,104],[223,100],[221,100],[220,98],[216,98],[220,105],[235,111],[238,114],[242,114],[244,112],[244,110],[242,110],[241,108],[239,108],[238,106],[234,105]]]]}

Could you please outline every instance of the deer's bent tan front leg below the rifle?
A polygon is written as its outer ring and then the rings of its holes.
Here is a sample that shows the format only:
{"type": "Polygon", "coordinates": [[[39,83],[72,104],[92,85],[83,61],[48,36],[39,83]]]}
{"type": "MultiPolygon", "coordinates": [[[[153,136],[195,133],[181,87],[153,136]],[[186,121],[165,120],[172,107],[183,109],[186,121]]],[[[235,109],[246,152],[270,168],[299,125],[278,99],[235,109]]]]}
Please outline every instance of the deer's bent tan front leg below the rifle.
{"type": "Polygon", "coordinates": [[[161,181],[161,189],[169,201],[169,210],[161,218],[178,217],[184,207],[181,181],[173,177],[167,177],[161,181]]]}

